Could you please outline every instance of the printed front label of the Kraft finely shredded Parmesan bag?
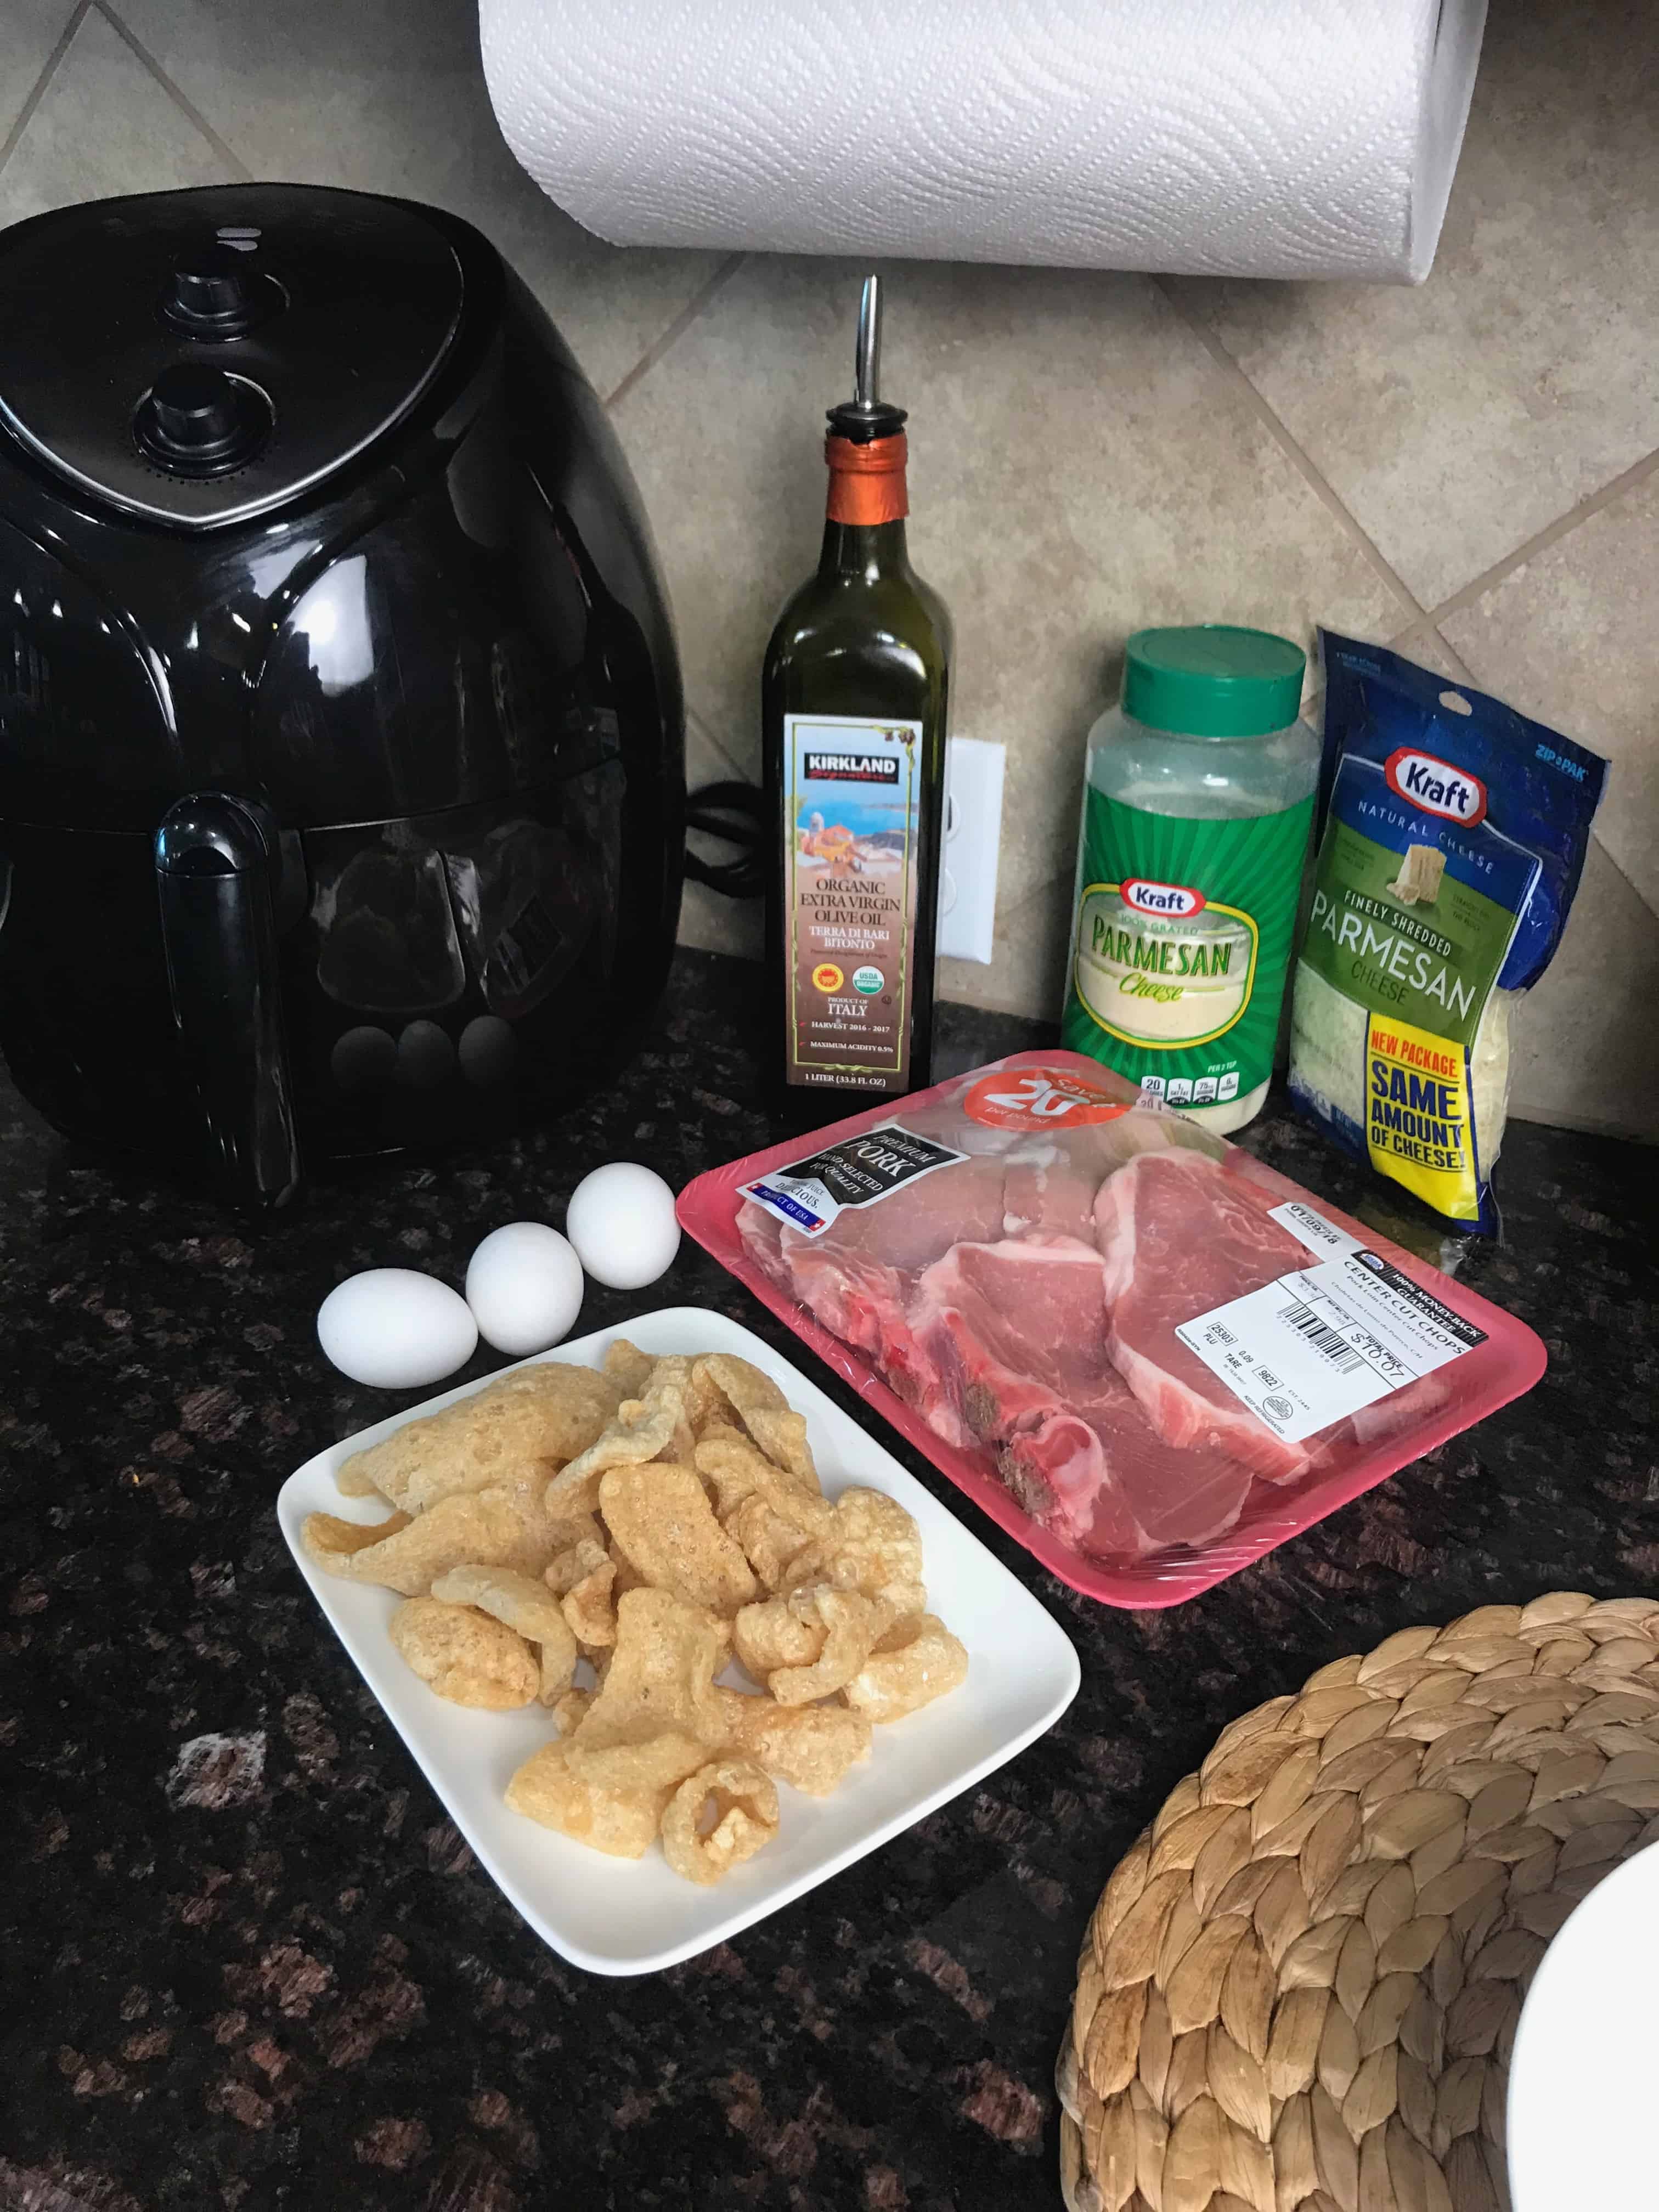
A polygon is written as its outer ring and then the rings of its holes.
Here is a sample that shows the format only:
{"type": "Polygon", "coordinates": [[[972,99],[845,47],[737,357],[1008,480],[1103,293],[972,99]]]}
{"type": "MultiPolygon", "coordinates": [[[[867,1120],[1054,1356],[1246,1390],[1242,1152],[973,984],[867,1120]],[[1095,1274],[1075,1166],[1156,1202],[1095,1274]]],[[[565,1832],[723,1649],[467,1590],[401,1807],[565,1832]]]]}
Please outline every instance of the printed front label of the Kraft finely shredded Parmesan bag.
{"type": "Polygon", "coordinates": [[[1486,785],[1427,750],[1349,754],[1332,787],[1303,936],[1292,1086],[1329,1062],[1340,1113],[1371,1166],[1449,1221],[1480,1219],[1482,1053],[1489,1009],[1540,876],[1486,821],[1486,785]]]}

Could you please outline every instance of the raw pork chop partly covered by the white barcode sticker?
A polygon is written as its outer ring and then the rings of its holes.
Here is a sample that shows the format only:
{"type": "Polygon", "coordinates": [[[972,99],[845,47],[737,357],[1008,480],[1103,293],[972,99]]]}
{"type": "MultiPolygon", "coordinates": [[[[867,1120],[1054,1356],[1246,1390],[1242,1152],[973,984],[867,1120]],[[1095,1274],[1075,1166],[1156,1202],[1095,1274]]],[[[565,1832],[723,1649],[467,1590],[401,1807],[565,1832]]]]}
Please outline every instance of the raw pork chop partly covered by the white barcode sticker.
{"type": "Polygon", "coordinates": [[[1307,1467],[1175,1334],[1217,1305],[1307,1263],[1243,1179],[1201,1152],[1144,1152],[1102,1183],[1113,1360],[1166,1444],[1217,1444],[1270,1482],[1307,1467]]]}

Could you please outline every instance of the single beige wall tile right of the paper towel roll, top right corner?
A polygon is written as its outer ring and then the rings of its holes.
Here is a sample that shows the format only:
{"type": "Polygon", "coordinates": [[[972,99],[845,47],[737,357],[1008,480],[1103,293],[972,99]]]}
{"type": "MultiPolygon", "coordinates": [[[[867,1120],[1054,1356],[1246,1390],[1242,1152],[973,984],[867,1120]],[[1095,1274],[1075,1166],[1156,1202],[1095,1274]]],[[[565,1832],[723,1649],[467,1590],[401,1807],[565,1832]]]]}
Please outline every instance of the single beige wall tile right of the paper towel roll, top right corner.
{"type": "Polygon", "coordinates": [[[1650,0],[1495,0],[1433,274],[1181,281],[1422,606],[1659,445],[1650,0]]]}

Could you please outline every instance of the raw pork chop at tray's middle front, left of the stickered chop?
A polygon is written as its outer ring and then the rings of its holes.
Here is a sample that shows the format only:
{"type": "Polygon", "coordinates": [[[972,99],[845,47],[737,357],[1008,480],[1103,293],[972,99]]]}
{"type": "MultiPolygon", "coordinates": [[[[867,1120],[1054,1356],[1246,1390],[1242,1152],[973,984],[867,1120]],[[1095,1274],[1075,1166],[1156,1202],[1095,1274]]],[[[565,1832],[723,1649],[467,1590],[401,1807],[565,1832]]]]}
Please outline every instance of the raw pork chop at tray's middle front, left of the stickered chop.
{"type": "Polygon", "coordinates": [[[916,1285],[911,1332],[1037,1520],[1106,1557],[1201,1544],[1250,1471],[1155,1436],[1106,1356],[1104,1272],[1073,1237],[960,1243],[916,1285]]]}

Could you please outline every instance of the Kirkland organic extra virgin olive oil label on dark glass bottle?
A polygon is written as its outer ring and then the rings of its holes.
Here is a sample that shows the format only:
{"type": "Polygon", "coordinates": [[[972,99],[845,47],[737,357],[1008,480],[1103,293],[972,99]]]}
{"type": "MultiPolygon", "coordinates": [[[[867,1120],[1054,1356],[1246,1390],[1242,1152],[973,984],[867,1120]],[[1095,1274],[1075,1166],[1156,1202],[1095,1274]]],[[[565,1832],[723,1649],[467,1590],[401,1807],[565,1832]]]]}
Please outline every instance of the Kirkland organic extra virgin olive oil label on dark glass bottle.
{"type": "Polygon", "coordinates": [[[785,714],[792,1084],[909,1088],[920,721],[785,714]]]}

